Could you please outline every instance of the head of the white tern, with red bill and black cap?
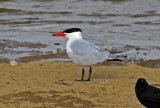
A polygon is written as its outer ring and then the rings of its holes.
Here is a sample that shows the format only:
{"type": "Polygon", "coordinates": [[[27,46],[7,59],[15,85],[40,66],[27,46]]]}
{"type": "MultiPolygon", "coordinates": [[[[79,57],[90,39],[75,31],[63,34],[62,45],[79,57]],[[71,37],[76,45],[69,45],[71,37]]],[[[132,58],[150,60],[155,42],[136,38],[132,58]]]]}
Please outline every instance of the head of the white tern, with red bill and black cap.
{"type": "Polygon", "coordinates": [[[82,38],[82,30],[79,28],[70,28],[64,30],[63,32],[55,33],[52,36],[64,36],[67,37],[68,39],[82,38]]]}

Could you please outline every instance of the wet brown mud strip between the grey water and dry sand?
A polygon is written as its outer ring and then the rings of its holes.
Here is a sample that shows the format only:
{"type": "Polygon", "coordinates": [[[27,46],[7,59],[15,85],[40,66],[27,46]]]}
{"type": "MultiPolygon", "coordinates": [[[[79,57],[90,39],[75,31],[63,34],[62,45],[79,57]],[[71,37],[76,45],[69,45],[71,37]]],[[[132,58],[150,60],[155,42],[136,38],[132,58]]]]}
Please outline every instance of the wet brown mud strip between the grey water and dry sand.
{"type": "MultiPolygon", "coordinates": [[[[0,64],[1,63],[9,63],[12,60],[9,60],[7,58],[0,58],[0,64]]],[[[45,55],[34,55],[34,56],[25,56],[21,57],[15,60],[16,62],[19,63],[27,63],[27,62],[34,62],[34,61],[71,61],[66,52],[58,52],[55,54],[49,53],[45,55]]],[[[106,65],[106,66],[121,66],[121,65],[126,65],[126,64],[137,64],[143,67],[150,67],[150,68],[160,68],[160,59],[155,59],[155,60],[137,60],[134,63],[131,63],[131,61],[127,61],[125,63],[124,60],[120,59],[115,59],[115,60],[106,60],[101,63],[97,63],[100,65],[106,65]]]]}

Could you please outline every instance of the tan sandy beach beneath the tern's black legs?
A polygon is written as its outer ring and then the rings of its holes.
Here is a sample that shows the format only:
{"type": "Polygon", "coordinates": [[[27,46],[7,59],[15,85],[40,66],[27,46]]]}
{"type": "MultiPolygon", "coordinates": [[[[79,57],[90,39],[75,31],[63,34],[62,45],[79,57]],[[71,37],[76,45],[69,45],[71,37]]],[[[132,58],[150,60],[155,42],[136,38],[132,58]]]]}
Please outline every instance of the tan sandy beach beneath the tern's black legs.
{"type": "Polygon", "coordinates": [[[140,77],[160,87],[160,68],[136,64],[94,66],[88,82],[76,81],[81,67],[73,62],[1,63],[0,108],[144,108],[134,91],[140,77]]]}

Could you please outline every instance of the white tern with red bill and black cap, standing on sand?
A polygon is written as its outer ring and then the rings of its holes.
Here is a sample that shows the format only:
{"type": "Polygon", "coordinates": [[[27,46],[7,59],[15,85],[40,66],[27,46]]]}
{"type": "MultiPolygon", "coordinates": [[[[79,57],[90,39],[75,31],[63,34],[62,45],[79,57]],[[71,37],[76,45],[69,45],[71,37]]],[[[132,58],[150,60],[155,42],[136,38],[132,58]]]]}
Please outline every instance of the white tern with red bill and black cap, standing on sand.
{"type": "Polygon", "coordinates": [[[55,33],[52,36],[64,36],[68,38],[66,44],[67,55],[73,62],[82,66],[82,81],[85,66],[90,66],[89,77],[87,80],[90,81],[92,73],[91,66],[106,60],[110,54],[108,51],[101,50],[95,44],[84,40],[82,37],[82,30],[79,28],[70,28],[63,32],[55,33]]]}

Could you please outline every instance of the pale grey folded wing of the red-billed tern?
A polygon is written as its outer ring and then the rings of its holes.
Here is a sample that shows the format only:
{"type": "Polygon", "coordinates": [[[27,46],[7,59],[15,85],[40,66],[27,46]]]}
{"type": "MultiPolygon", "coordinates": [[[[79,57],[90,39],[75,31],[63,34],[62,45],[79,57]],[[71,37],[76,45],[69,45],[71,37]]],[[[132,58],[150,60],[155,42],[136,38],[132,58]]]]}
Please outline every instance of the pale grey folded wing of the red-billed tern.
{"type": "MultiPolygon", "coordinates": [[[[98,46],[90,43],[86,40],[79,39],[71,43],[70,48],[72,49],[75,58],[82,60],[88,60],[88,62],[101,62],[107,59],[109,52],[102,51],[98,46]]],[[[94,63],[94,64],[95,64],[94,63]]]]}

